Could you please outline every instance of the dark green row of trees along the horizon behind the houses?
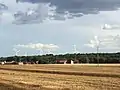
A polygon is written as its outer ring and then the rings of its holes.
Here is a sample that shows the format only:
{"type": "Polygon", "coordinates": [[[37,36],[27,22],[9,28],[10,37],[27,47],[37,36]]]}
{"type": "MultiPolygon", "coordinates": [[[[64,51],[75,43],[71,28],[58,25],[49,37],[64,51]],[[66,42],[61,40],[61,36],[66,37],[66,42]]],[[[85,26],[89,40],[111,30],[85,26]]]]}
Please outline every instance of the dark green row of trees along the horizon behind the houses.
{"type": "Polygon", "coordinates": [[[36,62],[39,64],[55,64],[56,60],[77,60],[79,63],[120,63],[120,53],[96,53],[89,54],[64,54],[64,55],[38,55],[38,56],[11,56],[1,57],[0,61],[36,62]]]}

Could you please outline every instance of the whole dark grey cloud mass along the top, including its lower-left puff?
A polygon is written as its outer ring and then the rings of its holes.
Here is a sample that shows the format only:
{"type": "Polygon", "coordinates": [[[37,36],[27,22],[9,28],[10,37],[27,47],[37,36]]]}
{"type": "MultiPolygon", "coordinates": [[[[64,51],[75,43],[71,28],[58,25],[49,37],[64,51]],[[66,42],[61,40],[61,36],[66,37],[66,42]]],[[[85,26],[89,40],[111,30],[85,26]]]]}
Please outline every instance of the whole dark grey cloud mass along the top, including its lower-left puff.
{"type": "Polygon", "coordinates": [[[16,2],[29,2],[38,5],[50,3],[50,7],[56,7],[54,15],[43,14],[45,11],[43,9],[41,12],[38,9],[34,10],[30,15],[27,14],[29,11],[17,12],[14,15],[16,21],[13,23],[19,22],[18,24],[43,22],[46,17],[54,20],[66,20],[87,14],[98,14],[99,11],[117,10],[120,7],[120,0],[16,0],[16,2]]]}

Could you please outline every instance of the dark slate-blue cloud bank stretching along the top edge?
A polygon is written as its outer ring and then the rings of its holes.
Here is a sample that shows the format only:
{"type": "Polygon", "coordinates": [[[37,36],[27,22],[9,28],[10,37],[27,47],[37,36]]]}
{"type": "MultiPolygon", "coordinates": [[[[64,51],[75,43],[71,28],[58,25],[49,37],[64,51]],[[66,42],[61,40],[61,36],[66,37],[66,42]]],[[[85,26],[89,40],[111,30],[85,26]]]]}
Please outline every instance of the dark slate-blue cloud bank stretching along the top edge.
{"type": "Polygon", "coordinates": [[[16,0],[17,2],[51,3],[58,12],[97,14],[99,11],[117,10],[120,0],[16,0]]]}

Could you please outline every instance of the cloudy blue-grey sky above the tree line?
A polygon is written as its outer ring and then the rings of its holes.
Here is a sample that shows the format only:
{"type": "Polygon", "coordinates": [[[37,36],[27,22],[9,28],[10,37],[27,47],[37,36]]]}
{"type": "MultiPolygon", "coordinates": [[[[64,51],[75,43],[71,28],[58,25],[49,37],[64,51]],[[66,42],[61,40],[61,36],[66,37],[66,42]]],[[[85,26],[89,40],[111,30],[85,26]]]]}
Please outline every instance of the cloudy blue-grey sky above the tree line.
{"type": "Polygon", "coordinates": [[[80,53],[96,52],[85,45],[94,36],[109,39],[100,52],[118,52],[120,28],[102,26],[120,25],[119,7],[120,0],[0,0],[0,56],[15,55],[13,48],[41,54],[41,45],[55,54],[72,53],[74,45],[80,53]]]}

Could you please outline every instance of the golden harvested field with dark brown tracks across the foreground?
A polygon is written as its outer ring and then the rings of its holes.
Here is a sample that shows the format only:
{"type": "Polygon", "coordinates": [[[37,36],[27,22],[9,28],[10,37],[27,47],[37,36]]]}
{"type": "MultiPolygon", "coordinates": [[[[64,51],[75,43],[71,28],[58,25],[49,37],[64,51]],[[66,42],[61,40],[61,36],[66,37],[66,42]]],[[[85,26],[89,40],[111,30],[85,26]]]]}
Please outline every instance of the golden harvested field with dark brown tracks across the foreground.
{"type": "Polygon", "coordinates": [[[120,65],[0,65],[0,90],[120,90],[120,65]]]}

